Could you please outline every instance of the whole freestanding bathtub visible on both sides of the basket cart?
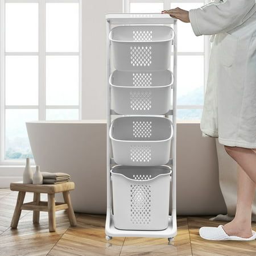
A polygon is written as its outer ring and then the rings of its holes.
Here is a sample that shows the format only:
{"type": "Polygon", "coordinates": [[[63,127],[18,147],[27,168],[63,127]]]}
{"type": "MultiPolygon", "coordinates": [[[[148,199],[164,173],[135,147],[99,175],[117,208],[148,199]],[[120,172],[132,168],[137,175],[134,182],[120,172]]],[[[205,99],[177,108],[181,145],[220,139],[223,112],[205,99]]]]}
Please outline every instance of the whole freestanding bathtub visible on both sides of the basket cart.
{"type": "MultiPolygon", "coordinates": [[[[75,181],[71,192],[75,211],[105,214],[106,122],[27,122],[27,131],[36,164],[43,171],[67,172],[75,181]]],[[[225,212],[215,140],[201,136],[200,123],[178,123],[177,214],[225,212]]]]}

